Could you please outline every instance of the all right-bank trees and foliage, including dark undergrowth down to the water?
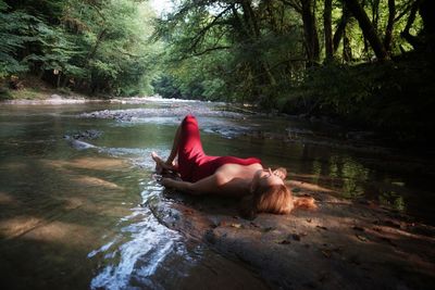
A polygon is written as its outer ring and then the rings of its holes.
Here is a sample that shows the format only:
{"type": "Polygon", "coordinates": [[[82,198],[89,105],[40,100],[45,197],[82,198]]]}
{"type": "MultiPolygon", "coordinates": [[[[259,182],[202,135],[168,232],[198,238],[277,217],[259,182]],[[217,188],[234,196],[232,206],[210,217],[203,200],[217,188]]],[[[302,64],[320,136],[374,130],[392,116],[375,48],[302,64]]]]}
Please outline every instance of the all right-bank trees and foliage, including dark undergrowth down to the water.
{"type": "Polygon", "coordinates": [[[403,128],[427,131],[434,2],[183,0],[158,22],[169,49],[156,89],[330,115],[401,138],[403,128]]]}

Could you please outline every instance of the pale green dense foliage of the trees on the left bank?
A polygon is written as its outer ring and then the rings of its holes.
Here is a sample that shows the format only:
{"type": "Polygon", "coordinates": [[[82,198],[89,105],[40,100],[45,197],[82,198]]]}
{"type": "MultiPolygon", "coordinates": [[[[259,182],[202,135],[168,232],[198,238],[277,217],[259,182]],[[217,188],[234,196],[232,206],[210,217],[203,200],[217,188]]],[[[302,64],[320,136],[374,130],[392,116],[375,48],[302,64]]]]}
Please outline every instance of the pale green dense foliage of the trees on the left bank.
{"type": "Polygon", "coordinates": [[[88,93],[151,92],[152,13],[133,0],[0,0],[0,78],[28,72],[88,93]]]}

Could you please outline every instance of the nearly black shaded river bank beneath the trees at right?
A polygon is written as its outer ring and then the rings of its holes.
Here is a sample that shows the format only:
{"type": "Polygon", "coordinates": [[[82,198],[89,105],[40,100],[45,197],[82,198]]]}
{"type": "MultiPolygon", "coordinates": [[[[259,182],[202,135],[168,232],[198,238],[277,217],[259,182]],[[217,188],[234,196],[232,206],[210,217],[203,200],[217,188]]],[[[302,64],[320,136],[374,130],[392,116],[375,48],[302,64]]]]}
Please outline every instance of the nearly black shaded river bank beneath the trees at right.
{"type": "Polygon", "coordinates": [[[394,61],[314,67],[278,102],[283,112],[323,116],[371,130],[393,147],[430,148],[435,121],[433,56],[403,54],[394,61]]]}

